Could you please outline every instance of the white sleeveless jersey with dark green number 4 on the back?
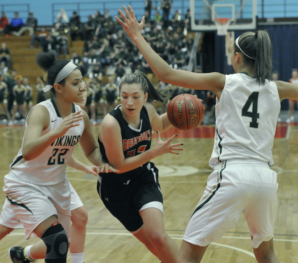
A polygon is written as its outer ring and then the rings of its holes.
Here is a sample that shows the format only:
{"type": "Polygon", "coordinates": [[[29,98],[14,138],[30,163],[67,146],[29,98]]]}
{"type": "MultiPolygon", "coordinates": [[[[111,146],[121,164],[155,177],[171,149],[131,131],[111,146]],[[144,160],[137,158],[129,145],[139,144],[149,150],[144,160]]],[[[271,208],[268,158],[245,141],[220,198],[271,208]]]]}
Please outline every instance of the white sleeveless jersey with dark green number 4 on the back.
{"type": "Polygon", "coordinates": [[[273,165],[272,147],[280,98],[272,81],[258,85],[243,73],[226,75],[216,99],[216,130],[209,165],[223,160],[257,159],[273,165]]]}

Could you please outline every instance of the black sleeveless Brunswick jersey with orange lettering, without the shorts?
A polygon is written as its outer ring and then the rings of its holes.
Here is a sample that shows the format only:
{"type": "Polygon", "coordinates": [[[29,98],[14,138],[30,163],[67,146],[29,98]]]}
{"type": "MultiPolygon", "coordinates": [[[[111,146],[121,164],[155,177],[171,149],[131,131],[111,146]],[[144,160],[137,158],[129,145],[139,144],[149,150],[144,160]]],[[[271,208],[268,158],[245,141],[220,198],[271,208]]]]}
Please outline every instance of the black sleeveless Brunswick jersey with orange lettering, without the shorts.
{"type": "MultiPolygon", "coordinates": [[[[140,128],[135,129],[132,128],[127,121],[123,118],[122,112],[120,110],[121,105],[117,106],[114,110],[109,112],[119,123],[121,128],[121,136],[122,136],[122,144],[123,144],[123,154],[125,158],[132,157],[138,154],[141,154],[144,151],[150,149],[151,145],[151,124],[148,116],[147,109],[145,106],[141,109],[140,112],[140,128]]],[[[106,157],[106,151],[103,143],[98,139],[100,152],[102,154],[103,160],[109,162],[106,157]]],[[[143,164],[142,166],[128,171],[122,174],[116,173],[101,173],[102,177],[109,177],[112,180],[120,180],[121,182],[126,183],[128,180],[131,180],[133,177],[137,177],[139,173],[143,173],[144,171],[148,171],[147,165],[149,162],[143,164]]]]}

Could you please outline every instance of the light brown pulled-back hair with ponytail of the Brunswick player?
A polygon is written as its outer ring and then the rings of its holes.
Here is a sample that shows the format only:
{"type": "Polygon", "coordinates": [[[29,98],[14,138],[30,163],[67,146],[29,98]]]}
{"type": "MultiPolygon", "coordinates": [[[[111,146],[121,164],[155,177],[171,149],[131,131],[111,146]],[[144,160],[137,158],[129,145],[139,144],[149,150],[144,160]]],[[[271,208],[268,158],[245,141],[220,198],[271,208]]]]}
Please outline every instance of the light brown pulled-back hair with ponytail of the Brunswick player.
{"type": "Polygon", "coordinates": [[[136,70],[135,73],[129,73],[124,75],[119,82],[119,92],[121,90],[121,86],[123,84],[133,84],[139,83],[141,84],[142,90],[144,94],[148,92],[148,99],[153,101],[159,101],[166,106],[172,92],[170,89],[155,89],[149,78],[141,72],[140,70],[136,70]]]}

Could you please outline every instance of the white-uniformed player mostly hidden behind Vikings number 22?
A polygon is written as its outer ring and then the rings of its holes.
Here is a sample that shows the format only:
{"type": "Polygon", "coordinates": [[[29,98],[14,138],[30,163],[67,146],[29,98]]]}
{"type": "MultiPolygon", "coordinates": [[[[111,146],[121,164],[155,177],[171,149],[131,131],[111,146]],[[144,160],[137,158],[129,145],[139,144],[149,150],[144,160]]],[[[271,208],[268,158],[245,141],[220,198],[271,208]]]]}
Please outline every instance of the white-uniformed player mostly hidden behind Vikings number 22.
{"type": "MultiPolygon", "coordinates": [[[[85,82],[82,83],[85,87],[85,82]]],[[[75,103],[81,108],[86,104],[87,99],[87,90],[83,92],[83,100],[80,103],[75,103]]],[[[70,159],[67,162],[67,165],[72,168],[86,172],[87,174],[93,174],[97,176],[97,167],[88,166],[81,163],[79,160],[75,159],[73,156],[70,156],[70,159]]],[[[84,263],[84,244],[86,237],[86,225],[88,220],[88,214],[84,207],[83,202],[78,196],[77,192],[70,183],[70,211],[71,211],[71,237],[72,242],[70,243],[70,259],[72,263],[84,263]]],[[[4,236],[8,235],[13,229],[23,228],[22,223],[16,218],[16,215],[13,213],[13,210],[10,208],[9,202],[6,199],[4,201],[2,211],[0,214],[0,240],[4,236]]],[[[18,247],[19,250],[22,250],[21,247],[18,247]]],[[[30,251],[31,260],[35,259],[44,259],[46,254],[46,246],[42,240],[24,247],[24,250],[30,251]]],[[[25,259],[25,262],[28,262],[30,259],[25,259]]]]}

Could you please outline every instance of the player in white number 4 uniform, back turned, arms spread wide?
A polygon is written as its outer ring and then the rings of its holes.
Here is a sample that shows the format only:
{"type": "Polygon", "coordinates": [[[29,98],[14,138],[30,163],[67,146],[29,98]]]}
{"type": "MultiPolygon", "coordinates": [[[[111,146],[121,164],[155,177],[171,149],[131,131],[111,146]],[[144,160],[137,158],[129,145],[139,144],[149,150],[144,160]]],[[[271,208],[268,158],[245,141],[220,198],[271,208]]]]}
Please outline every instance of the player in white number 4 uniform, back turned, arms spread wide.
{"type": "Polygon", "coordinates": [[[171,68],[141,34],[145,17],[123,6],[124,30],[135,42],[157,77],[189,89],[216,94],[216,132],[209,165],[214,168],[194,210],[180,247],[178,262],[200,262],[208,245],[233,228],[241,212],[251,233],[258,262],[279,262],[273,248],[277,207],[277,174],[271,148],[280,101],[298,99],[298,85],[269,81],[271,42],[265,31],[246,32],[233,45],[236,74],[194,73],[171,68]]]}

